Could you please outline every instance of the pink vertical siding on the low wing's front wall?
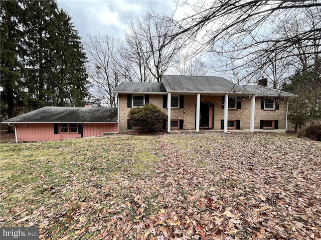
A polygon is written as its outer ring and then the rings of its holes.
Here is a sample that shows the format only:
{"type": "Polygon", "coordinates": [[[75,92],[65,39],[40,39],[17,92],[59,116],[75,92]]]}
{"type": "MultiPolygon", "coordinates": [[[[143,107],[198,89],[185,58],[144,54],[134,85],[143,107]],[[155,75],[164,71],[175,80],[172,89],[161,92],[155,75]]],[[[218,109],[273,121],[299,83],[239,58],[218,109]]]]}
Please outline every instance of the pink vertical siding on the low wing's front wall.
{"type": "MultiPolygon", "coordinates": [[[[54,123],[15,124],[19,141],[51,141],[81,137],[78,133],[54,134],[54,123]]],[[[84,123],[83,136],[99,136],[104,132],[117,132],[118,123],[84,123]]]]}

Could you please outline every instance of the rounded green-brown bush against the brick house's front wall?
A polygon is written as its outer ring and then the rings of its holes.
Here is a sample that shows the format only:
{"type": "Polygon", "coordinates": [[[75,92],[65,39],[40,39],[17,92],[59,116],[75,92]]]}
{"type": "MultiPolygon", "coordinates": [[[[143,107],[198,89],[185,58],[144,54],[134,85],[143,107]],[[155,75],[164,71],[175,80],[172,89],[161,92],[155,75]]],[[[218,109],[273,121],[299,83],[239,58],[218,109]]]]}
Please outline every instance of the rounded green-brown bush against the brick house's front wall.
{"type": "Polygon", "coordinates": [[[152,132],[162,129],[163,121],[167,120],[168,116],[155,104],[146,103],[142,107],[131,108],[128,119],[132,126],[142,126],[143,129],[152,132]]]}

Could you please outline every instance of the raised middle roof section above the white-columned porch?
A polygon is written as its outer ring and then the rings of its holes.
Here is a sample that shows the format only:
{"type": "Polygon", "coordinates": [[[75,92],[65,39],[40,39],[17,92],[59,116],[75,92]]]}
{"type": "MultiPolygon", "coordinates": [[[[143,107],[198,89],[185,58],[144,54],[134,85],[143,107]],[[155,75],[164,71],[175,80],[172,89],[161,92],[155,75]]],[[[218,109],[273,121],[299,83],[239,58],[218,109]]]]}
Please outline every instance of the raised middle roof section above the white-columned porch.
{"type": "Polygon", "coordinates": [[[181,92],[228,92],[235,85],[232,81],[219,76],[179,76],[163,75],[166,89],[181,92]]]}

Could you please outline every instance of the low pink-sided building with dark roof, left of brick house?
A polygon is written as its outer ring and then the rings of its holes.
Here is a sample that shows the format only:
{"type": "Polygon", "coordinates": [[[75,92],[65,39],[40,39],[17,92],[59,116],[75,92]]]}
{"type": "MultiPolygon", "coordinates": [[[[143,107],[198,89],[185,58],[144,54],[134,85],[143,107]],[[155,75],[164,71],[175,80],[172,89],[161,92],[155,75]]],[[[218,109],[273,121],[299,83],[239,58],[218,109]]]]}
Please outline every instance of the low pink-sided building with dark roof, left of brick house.
{"type": "Polygon", "coordinates": [[[50,141],[118,132],[115,107],[45,106],[2,123],[15,127],[18,141],[50,141]]]}

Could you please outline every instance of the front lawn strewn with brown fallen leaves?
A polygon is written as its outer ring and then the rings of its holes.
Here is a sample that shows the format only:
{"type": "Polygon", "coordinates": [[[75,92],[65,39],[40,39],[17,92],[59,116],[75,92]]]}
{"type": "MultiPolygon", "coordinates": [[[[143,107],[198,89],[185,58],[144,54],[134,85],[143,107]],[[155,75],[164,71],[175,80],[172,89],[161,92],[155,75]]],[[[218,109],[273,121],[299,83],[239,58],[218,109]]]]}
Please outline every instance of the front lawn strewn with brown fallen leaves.
{"type": "Polygon", "coordinates": [[[273,133],[1,145],[0,226],[41,239],[320,239],[321,142],[273,133]]]}

